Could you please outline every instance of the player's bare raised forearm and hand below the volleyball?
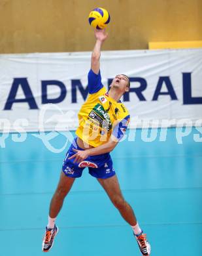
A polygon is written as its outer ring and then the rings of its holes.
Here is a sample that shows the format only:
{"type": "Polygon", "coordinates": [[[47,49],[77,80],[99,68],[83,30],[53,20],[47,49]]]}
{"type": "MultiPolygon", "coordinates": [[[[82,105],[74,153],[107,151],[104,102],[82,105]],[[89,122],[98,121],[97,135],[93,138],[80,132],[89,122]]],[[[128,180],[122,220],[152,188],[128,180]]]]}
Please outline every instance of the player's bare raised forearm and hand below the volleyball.
{"type": "Polygon", "coordinates": [[[93,48],[92,52],[92,58],[91,58],[91,69],[95,74],[99,74],[99,59],[101,55],[101,47],[107,39],[108,34],[105,32],[105,30],[95,30],[95,46],[93,48]]]}

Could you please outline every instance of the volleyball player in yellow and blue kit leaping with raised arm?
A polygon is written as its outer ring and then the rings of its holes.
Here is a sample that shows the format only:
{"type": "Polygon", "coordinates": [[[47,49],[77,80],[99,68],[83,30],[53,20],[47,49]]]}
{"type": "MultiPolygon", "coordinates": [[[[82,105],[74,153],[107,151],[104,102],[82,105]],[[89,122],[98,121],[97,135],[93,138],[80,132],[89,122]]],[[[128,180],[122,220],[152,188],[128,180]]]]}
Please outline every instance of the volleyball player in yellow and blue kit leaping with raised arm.
{"type": "Polygon", "coordinates": [[[107,36],[105,30],[95,30],[96,42],[88,73],[89,95],[78,113],[76,138],[67,152],[59,184],[50,203],[48,224],[42,242],[44,252],[50,250],[58,233],[55,221],[65,196],[75,179],[81,177],[84,168],[88,167],[90,175],[103,186],[111,202],[133,229],[141,253],[150,255],[146,234],[143,234],[137,223],[133,209],[124,200],[109,154],[124,136],[129,123],[129,112],[120,98],[129,91],[130,82],[127,75],[119,74],[112,80],[109,92],[103,87],[99,59],[101,46],[107,36]]]}

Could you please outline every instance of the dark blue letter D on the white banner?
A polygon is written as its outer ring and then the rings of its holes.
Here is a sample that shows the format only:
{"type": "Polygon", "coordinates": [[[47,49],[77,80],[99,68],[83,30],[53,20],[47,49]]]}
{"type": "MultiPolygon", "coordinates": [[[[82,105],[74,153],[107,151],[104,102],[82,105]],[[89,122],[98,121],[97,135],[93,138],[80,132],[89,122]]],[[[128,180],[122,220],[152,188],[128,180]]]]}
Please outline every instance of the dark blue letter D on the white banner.
{"type": "Polygon", "coordinates": [[[65,85],[61,81],[58,81],[58,80],[41,81],[41,87],[42,87],[42,104],[59,103],[59,102],[63,101],[63,99],[67,95],[67,89],[66,89],[65,85]],[[59,87],[61,93],[58,96],[58,98],[48,98],[47,97],[48,85],[56,85],[59,87]]]}

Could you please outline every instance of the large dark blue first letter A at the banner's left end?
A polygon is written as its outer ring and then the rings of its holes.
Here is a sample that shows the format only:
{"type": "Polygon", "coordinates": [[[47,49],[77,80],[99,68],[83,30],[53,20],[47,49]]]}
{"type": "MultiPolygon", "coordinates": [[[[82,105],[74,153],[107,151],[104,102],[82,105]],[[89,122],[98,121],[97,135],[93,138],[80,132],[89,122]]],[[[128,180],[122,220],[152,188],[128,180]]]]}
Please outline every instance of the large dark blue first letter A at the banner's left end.
{"type": "Polygon", "coordinates": [[[33,97],[26,77],[14,78],[4,110],[11,110],[12,104],[15,102],[27,102],[31,110],[38,109],[37,103],[35,102],[35,98],[33,97]],[[22,91],[24,92],[25,98],[16,98],[20,85],[22,87],[22,91]]]}

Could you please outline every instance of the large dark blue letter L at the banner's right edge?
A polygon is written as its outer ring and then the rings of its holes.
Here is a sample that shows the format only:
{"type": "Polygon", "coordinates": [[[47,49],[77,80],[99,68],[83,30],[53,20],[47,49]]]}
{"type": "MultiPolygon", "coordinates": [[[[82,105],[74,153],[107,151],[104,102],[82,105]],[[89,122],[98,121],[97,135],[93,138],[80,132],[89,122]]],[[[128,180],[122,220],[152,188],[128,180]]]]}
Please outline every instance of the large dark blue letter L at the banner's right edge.
{"type": "Polygon", "coordinates": [[[202,104],[202,97],[192,97],[192,73],[182,73],[183,104],[202,104]]]}

